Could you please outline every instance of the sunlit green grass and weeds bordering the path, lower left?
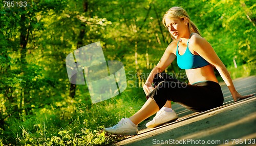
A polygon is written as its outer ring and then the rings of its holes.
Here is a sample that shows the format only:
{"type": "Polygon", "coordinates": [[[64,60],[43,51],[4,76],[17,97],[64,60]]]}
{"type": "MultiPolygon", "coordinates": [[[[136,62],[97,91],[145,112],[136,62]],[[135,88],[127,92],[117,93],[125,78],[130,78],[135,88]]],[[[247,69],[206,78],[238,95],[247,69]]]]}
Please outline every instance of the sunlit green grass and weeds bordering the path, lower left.
{"type": "Polygon", "coordinates": [[[103,131],[134,114],[146,101],[142,88],[127,88],[119,96],[88,105],[81,97],[63,98],[30,115],[6,121],[0,145],[110,145],[118,141],[103,131]]]}

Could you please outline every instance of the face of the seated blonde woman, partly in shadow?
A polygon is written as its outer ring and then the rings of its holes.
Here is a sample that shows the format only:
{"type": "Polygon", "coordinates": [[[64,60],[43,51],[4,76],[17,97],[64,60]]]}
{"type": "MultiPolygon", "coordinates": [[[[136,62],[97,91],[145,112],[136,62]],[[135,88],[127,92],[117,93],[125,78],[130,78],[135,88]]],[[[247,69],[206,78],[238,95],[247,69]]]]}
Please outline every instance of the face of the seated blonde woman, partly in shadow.
{"type": "Polygon", "coordinates": [[[165,19],[165,24],[168,28],[168,31],[175,39],[184,37],[188,31],[187,22],[184,20],[185,19],[165,19]]]}

